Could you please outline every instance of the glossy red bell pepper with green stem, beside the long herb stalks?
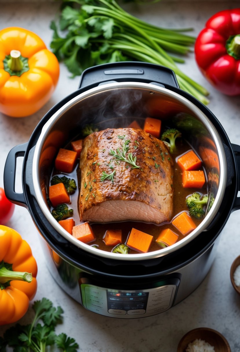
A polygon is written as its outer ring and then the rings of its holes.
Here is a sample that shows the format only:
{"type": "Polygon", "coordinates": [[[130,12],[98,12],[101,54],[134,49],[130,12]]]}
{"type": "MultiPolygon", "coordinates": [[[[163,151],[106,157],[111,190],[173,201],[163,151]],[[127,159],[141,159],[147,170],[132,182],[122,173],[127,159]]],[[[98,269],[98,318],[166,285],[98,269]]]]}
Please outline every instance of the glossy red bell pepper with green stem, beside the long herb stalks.
{"type": "Polygon", "coordinates": [[[240,94],[240,8],[220,11],[207,21],[196,39],[195,58],[216,89],[240,94]]]}

